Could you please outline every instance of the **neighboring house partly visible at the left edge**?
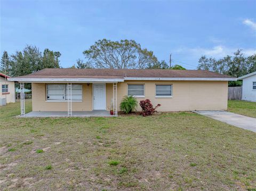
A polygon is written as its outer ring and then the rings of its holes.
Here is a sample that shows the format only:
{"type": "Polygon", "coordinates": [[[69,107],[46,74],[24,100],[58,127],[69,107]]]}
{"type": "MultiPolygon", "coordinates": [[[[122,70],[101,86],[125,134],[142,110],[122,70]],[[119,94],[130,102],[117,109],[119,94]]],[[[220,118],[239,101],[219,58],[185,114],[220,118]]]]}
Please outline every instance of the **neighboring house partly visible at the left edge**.
{"type": "Polygon", "coordinates": [[[0,73],[0,105],[15,102],[14,81],[8,81],[10,76],[0,73]]]}

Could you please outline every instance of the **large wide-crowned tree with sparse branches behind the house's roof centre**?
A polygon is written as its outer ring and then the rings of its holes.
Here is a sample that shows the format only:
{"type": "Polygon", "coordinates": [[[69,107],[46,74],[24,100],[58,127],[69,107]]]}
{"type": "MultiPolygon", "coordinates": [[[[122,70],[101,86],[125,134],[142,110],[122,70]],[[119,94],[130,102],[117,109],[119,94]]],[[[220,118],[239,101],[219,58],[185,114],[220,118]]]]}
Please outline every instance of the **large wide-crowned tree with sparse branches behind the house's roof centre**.
{"type": "Polygon", "coordinates": [[[83,54],[96,68],[142,69],[157,62],[152,51],[141,48],[134,40],[98,40],[83,54]]]}

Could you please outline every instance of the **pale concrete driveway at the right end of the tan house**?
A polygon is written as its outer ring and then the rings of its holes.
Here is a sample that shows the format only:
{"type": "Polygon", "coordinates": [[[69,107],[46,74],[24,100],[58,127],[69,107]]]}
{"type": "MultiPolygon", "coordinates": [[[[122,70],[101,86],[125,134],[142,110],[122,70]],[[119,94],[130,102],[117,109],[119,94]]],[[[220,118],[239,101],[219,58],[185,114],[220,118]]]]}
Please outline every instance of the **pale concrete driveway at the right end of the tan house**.
{"type": "Polygon", "coordinates": [[[206,117],[216,119],[233,126],[256,132],[256,118],[250,118],[244,115],[231,113],[227,111],[194,111],[195,113],[205,115],[206,117]]]}

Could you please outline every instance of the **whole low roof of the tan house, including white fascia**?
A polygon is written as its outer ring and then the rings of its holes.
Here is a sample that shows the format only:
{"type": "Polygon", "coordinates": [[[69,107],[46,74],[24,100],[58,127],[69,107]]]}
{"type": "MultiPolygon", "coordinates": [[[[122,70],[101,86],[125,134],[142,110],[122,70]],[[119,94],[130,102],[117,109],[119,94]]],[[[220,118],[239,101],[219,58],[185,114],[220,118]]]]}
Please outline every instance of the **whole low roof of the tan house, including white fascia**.
{"type": "Polygon", "coordinates": [[[10,81],[124,81],[124,80],[221,80],[236,78],[207,70],[163,69],[43,69],[10,81]]]}

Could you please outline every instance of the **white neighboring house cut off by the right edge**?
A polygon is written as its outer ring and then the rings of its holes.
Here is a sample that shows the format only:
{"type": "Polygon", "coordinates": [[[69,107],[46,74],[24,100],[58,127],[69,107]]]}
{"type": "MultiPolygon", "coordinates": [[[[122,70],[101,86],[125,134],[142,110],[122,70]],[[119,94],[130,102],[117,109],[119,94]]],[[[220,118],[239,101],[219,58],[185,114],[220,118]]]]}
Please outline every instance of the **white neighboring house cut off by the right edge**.
{"type": "Polygon", "coordinates": [[[256,71],[239,77],[238,80],[243,80],[242,99],[256,102],[256,71]]]}

